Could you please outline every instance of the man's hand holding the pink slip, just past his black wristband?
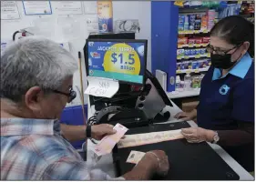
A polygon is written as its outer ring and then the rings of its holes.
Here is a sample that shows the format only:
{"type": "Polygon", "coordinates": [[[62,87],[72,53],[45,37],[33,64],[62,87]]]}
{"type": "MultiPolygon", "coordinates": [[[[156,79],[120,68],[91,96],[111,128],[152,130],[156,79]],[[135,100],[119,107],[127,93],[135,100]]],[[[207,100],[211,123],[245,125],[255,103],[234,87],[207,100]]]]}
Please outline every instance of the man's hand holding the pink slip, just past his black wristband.
{"type": "Polygon", "coordinates": [[[91,126],[91,136],[94,139],[101,140],[104,136],[113,135],[117,132],[113,127],[109,124],[91,126]]]}

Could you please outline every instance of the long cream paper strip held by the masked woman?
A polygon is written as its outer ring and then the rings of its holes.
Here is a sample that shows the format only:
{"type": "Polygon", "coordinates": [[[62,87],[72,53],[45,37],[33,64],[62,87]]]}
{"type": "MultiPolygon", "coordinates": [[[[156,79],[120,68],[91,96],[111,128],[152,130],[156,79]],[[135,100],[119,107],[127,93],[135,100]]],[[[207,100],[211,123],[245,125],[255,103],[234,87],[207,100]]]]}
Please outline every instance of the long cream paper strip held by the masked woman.
{"type": "Polygon", "coordinates": [[[183,137],[184,136],[181,134],[181,129],[151,132],[147,134],[126,135],[124,139],[121,139],[118,142],[118,148],[155,144],[163,141],[180,139],[183,137]]]}

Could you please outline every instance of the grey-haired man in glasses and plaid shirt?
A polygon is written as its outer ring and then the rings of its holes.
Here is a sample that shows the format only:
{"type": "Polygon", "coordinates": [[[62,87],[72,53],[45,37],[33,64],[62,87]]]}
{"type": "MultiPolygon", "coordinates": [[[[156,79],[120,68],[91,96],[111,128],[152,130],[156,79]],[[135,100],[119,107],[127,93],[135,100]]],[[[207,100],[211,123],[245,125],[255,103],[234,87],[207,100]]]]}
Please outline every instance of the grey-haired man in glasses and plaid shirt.
{"type": "MultiPolygon", "coordinates": [[[[76,70],[74,57],[41,37],[26,37],[6,48],[1,56],[1,180],[111,179],[100,169],[89,171],[61,136],[56,118],[74,98],[76,70]]],[[[70,138],[72,132],[86,135],[83,127],[68,130],[70,138]]],[[[96,139],[113,133],[109,125],[91,128],[96,139]]],[[[115,179],[145,180],[168,170],[165,153],[150,151],[136,167],[115,179]]]]}

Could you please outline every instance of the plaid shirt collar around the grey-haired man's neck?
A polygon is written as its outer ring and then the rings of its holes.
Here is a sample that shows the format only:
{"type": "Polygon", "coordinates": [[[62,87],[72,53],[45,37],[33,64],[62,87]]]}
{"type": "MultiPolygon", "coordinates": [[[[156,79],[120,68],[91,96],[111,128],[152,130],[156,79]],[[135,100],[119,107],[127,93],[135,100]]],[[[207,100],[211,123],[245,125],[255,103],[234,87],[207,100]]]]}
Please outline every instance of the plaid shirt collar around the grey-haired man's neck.
{"type": "Polygon", "coordinates": [[[56,119],[1,118],[1,136],[45,135],[60,131],[56,119]]]}

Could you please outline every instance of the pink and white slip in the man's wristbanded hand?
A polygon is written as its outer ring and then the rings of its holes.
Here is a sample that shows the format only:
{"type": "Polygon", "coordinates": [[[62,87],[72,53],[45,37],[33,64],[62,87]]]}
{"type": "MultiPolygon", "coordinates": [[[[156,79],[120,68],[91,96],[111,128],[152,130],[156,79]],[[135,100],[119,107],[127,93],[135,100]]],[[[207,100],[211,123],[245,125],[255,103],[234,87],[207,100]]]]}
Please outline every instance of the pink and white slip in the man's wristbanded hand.
{"type": "Polygon", "coordinates": [[[103,137],[100,142],[93,148],[93,151],[97,154],[97,156],[103,156],[109,154],[113,147],[118,143],[122,136],[128,131],[128,128],[117,124],[114,128],[117,133],[103,137]]]}

